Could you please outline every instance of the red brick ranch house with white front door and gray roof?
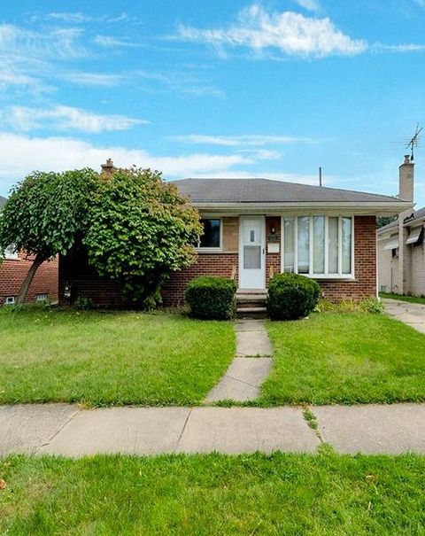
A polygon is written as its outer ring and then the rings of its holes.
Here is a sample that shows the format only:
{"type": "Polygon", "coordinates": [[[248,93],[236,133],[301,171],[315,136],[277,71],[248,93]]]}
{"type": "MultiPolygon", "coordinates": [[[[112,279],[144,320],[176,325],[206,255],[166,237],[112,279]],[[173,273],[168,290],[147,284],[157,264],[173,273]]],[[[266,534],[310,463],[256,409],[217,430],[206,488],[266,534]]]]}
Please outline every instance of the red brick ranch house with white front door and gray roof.
{"type": "MultiPolygon", "coordinates": [[[[184,179],[174,184],[197,208],[205,233],[197,261],[163,285],[179,306],[190,279],[234,278],[239,296],[265,294],[271,276],[296,272],[321,284],[331,300],[376,296],[376,216],[398,214],[403,199],[267,179],[184,179]]],[[[89,268],[84,254],[59,260],[59,300],[66,291],[97,305],[122,307],[115,284],[89,268]]],[[[246,298],[246,297],[245,297],[246,298]]]]}

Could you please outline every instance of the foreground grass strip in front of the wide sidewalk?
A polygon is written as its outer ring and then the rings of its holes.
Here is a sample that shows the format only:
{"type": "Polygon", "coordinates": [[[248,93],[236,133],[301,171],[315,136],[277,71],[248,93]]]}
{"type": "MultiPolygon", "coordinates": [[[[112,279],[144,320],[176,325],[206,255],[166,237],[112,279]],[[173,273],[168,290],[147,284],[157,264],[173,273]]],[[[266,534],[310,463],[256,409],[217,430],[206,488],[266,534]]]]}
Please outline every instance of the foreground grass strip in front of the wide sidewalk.
{"type": "Polygon", "coordinates": [[[9,536],[420,536],[425,458],[331,454],[0,460],[9,536]]]}

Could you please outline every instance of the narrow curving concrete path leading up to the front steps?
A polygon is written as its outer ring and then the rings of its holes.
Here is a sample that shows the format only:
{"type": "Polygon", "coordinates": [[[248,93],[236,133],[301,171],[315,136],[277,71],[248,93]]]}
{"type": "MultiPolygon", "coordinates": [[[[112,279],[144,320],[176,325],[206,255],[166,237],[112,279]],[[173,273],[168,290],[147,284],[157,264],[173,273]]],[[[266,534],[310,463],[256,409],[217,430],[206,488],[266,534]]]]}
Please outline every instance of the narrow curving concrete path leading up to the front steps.
{"type": "Polygon", "coordinates": [[[259,397],[259,387],[272,367],[272,345],[262,320],[236,323],[236,358],[205,398],[206,402],[246,402],[259,397]]]}

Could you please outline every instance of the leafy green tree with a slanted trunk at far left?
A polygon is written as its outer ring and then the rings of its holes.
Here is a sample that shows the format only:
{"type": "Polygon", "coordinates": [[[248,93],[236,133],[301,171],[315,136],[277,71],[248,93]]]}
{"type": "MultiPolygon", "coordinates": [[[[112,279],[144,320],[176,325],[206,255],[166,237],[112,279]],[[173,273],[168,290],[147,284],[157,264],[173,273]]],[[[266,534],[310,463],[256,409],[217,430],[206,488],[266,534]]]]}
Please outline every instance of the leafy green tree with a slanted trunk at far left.
{"type": "Polygon", "coordinates": [[[35,172],[13,188],[0,216],[0,252],[14,245],[33,259],[18,304],[24,303],[42,262],[65,254],[87,231],[89,203],[98,183],[99,174],[86,168],[35,172]]]}

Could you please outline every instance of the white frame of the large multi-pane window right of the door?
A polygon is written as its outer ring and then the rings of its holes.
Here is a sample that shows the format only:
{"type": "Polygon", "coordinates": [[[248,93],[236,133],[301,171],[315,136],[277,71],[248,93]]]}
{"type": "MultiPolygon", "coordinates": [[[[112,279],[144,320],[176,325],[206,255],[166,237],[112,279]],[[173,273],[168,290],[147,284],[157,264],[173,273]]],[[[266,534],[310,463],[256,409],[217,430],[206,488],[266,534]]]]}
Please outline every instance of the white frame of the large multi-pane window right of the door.
{"type": "Polygon", "coordinates": [[[285,214],[281,217],[281,272],[284,272],[285,269],[285,249],[284,249],[284,239],[285,239],[285,228],[284,228],[284,219],[285,218],[294,218],[294,273],[298,274],[298,217],[308,217],[309,218],[309,272],[308,274],[302,274],[302,276],[312,277],[313,279],[354,279],[355,270],[354,270],[354,243],[355,243],[355,218],[353,214],[285,214]],[[325,269],[323,274],[314,274],[313,272],[313,217],[314,216],[324,216],[325,218],[325,269]],[[338,218],[338,273],[329,274],[328,273],[328,223],[329,217],[338,218]],[[352,271],[350,274],[343,274],[343,218],[352,219],[352,271]]]}

